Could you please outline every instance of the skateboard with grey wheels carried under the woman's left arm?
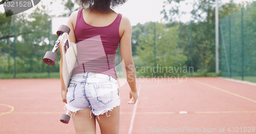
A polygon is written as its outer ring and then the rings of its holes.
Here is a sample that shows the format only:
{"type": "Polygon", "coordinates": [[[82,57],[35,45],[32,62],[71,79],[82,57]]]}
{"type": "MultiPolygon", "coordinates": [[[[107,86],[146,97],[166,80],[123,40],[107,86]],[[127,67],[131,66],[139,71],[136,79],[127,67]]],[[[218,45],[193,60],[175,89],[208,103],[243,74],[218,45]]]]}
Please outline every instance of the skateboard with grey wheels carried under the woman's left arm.
{"type": "MultiPolygon", "coordinates": [[[[77,48],[76,44],[70,42],[69,40],[70,29],[67,25],[60,25],[57,31],[58,40],[52,51],[47,51],[43,61],[48,65],[54,65],[58,56],[55,53],[57,49],[60,49],[60,65],[59,74],[61,81],[61,90],[65,90],[67,94],[67,89],[70,83],[70,77],[77,59],[77,48]]],[[[62,123],[68,124],[70,120],[69,111],[63,114],[60,118],[62,123]]]]}

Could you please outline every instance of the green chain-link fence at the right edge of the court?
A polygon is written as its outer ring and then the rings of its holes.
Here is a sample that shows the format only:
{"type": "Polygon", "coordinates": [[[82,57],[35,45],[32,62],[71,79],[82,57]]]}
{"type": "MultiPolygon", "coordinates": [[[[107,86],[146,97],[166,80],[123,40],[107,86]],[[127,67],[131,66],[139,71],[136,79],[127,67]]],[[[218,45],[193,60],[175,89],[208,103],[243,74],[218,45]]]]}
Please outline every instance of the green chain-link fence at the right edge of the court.
{"type": "Polygon", "coordinates": [[[220,20],[223,77],[256,82],[256,9],[252,5],[220,20]]]}

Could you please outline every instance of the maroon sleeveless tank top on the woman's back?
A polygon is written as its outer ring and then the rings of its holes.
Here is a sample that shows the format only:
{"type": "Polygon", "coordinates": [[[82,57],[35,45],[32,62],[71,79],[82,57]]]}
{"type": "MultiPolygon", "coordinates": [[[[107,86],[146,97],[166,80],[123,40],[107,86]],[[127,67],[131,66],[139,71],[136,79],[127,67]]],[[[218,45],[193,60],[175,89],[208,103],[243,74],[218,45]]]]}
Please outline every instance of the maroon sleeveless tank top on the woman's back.
{"type": "Polygon", "coordinates": [[[77,43],[77,62],[72,76],[84,72],[94,72],[116,76],[115,56],[120,41],[119,25],[122,15],[107,26],[92,26],[86,23],[82,9],[78,11],[75,37],[77,43]]]}

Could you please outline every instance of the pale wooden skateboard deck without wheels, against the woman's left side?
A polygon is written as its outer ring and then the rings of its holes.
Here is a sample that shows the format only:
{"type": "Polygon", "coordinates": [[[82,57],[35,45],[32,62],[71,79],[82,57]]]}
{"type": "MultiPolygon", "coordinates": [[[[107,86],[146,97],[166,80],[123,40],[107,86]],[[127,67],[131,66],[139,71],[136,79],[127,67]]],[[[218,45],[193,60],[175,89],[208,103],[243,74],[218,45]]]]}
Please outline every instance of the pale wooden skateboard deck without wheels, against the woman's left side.
{"type": "Polygon", "coordinates": [[[61,88],[65,89],[67,93],[70,77],[77,59],[76,44],[70,42],[69,35],[67,33],[62,34],[59,49],[61,56],[59,65],[60,81],[62,85],[61,88]]]}

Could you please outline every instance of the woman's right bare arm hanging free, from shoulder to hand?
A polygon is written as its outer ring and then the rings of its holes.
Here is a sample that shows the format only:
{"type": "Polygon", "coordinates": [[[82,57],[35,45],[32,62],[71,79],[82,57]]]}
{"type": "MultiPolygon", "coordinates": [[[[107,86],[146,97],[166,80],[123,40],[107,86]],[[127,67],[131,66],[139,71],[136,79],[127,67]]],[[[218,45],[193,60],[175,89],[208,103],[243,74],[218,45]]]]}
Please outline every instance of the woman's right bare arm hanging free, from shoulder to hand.
{"type": "Polygon", "coordinates": [[[120,39],[120,55],[123,58],[126,78],[127,82],[131,88],[130,91],[130,100],[128,103],[134,104],[138,99],[137,88],[136,88],[136,73],[135,66],[133,63],[132,57],[132,26],[130,20],[126,17],[122,17],[120,22],[120,31],[121,31],[121,39],[120,39]]]}

